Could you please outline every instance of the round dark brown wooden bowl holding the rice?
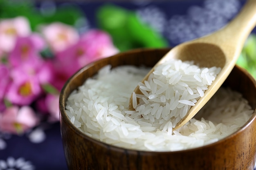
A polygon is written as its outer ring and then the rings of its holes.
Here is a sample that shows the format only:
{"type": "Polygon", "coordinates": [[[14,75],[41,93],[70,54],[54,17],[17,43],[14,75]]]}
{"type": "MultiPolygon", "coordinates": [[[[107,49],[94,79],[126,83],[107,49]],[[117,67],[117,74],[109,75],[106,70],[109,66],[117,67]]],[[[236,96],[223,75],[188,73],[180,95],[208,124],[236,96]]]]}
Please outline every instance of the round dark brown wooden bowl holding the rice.
{"type": "MultiPolygon", "coordinates": [[[[78,130],[65,113],[70,93],[107,64],[153,66],[170,49],[137,49],[104,58],[82,68],[65,84],[60,96],[61,135],[70,170],[253,170],[256,161],[256,112],[242,129],[216,143],[175,152],[137,151],[111,146],[78,130]]],[[[256,108],[256,82],[235,66],[223,86],[243,94],[256,108]]]]}

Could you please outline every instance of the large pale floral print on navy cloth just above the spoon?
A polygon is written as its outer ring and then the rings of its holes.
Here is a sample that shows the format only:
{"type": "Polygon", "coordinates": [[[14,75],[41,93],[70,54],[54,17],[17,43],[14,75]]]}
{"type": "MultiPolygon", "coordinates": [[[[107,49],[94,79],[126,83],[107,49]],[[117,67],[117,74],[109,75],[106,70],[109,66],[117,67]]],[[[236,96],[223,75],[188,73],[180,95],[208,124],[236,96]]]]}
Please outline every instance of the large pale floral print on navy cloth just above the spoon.
{"type": "Polygon", "coordinates": [[[238,0],[206,0],[203,7],[189,7],[187,15],[172,16],[167,37],[175,44],[202,37],[225,26],[239,9],[238,0]]]}

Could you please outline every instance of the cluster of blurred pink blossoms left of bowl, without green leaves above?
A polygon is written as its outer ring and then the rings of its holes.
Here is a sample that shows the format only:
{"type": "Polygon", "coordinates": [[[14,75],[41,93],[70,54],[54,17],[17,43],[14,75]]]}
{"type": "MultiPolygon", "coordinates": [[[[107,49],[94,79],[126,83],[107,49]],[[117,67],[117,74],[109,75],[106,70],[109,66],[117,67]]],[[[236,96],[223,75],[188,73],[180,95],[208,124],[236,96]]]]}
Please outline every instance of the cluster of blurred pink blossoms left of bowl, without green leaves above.
{"type": "Polygon", "coordinates": [[[59,120],[58,96],[85,64],[118,52],[100,30],[79,35],[61,22],[32,32],[25,17],[0,20],[0,131],[23,134],[59,120]]]}

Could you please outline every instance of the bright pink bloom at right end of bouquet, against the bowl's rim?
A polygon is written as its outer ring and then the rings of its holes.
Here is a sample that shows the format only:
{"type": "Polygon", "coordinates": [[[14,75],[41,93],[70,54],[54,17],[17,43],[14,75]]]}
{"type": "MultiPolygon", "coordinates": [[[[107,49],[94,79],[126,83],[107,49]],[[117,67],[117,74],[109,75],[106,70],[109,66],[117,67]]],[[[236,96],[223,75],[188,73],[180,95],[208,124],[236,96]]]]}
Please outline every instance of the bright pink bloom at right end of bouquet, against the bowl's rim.
{"type": "Polygon", "coordinates": [[[81,67],[117,52],[108,34],[98,30],[88,31],[79,42],[57,53],[56,71],[70,77],[81,67]]]}

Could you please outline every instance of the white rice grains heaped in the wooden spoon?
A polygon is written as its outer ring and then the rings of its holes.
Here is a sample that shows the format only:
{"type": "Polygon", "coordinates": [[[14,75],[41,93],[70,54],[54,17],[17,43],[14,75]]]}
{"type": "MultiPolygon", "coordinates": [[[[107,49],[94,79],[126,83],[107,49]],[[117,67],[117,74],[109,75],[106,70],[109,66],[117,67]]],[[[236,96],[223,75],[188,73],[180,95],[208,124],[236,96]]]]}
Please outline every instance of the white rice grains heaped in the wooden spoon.
{"type": "Polygon", "coordinates": [[[193,62],[168,60],[157,66],[144,84],[139,83],[143,95],[133,93],[132,106],[156,128],[162,130],[170,121],[174,128],[191,106],[204,96],[204,91],[219,72],[217,67],[200,68],[193,62]],[[155,112],[155,104],[162,106],[161,111],[155,112]]]}

